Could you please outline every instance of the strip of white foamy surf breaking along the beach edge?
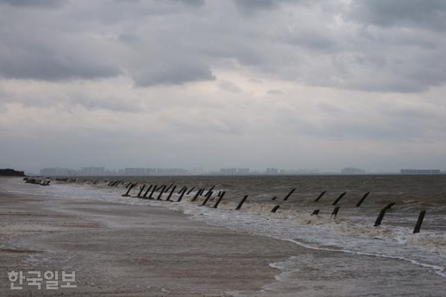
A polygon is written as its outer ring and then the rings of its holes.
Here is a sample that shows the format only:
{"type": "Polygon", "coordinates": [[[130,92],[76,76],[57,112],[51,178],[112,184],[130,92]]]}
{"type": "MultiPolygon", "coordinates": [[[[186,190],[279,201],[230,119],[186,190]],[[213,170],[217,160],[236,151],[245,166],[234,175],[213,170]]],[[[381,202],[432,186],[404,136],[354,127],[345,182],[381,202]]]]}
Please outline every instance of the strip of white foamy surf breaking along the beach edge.
{"type": "MultiPolygon", "coordinates": [[[[29,190],[24,191],[26,194],[32,193],[29,190]]],[[[311,216],[308,211],[303,212],[299,209],[283,209],[273,214],[270,210],[275,204],[268,202],[247,201],[243,205],[243,211],[233,211],[237,203],[231,201],[222,201],[218,209],[199,207],[202,198],[197,202],[190,202],[190,197],[194,193],[187,196],[183,202],[169,203],[123,198],[118,194],[121,191],[122,188],[116,190],[107,187],[98,191],[93,186],[85,188],[84,186],[54,184],[50,187],[39,187],[36,194],[51,193],[62,199],[82,197],[125,204],[168,207],[183,211],[194,220],[220,225],[231,230],[270,236],[313,250],[398,259],[430,268],[438,275],[446,277],[445,234],[425,230],[422,230],[420,234],[412,234],[412,230],[408,227],[373,227],[373,222],[361,217],[334,219],[328,215],[311,216]]],[[[215,200],[211,200],[208,204],[213,205],[214,202],[215,200]]],[[[271,267],[283,270],[278,264],[271,264],[271,267]]],[[[282,275],[282,277],[285,276],[282,275]]]]}

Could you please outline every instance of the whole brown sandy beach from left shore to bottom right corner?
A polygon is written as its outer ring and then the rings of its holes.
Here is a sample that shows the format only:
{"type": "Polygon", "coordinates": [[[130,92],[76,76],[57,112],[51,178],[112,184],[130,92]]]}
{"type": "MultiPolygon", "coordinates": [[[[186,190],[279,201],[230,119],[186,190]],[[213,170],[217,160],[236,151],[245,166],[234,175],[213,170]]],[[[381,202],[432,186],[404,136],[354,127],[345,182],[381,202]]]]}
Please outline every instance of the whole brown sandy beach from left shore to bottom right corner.
{"type": "Polygon", "coordinates": [[[444,296],[445,278],[400,259],[209,225],[163,207],[170,202],[47,189],[0,179],[2,296],[444,296]],[[77,288],[10,291],[13,270],[75,271],[77,288]]]}

